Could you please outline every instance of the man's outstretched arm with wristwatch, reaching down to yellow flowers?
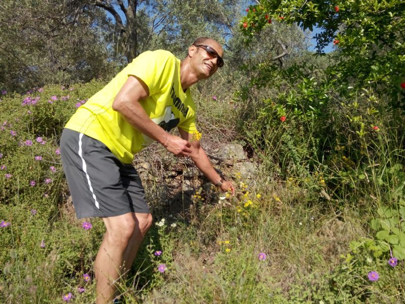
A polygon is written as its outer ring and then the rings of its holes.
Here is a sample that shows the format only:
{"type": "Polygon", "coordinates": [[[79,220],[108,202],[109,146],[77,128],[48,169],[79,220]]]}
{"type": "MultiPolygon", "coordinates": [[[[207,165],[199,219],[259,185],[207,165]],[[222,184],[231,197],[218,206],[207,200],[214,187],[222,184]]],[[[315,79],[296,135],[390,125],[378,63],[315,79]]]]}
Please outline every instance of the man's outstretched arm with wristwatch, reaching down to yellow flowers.
{"type": "MultiPolygon", "coordinates": [[[[178,128],[181,137],[185,140],[191,140],[192,134],[178,128]]],[[[231,191],[232,195],[235,194],[235,188],[232,182],[228,180],[222,180],[221,176],[215,171],[214,167],[211,165],[210,160],[208,159],[207,154],[205,153],[203,147],[201,147],[199,140],[191,142],[191,149],[192,152],[190,153],[190,157],[197,166],[197,168],[203,172],[205,176],[213,184],[217,184],[219,181],[222,181],[222,185],[220,186],[222,191],[231,191]]]]}

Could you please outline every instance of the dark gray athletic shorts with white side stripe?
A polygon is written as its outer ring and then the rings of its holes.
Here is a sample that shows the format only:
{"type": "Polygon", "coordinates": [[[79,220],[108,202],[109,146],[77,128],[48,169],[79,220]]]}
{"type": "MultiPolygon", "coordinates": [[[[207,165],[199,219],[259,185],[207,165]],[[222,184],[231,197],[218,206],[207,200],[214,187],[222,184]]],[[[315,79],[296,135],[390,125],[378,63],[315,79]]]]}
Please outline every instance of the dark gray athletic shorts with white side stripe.
{"type": "Polygon", "coordinates": [[[60,150],[77,218],[150,212],[134,166],[101,141],[64,129],[60,150]]]}

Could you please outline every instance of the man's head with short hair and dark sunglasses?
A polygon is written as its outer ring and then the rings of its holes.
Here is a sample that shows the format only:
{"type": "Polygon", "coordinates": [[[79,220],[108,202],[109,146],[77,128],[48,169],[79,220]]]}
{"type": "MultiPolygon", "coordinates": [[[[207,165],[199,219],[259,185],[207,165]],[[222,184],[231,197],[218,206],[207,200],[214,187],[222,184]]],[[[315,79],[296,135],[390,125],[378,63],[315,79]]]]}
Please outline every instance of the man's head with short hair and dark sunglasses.
{"type": "Polygon", "coordinates": [[[224,62],[221,45],[209,37],[199,37],[188,48],[190,64],[201,79],[209,78],[224,62]]]}

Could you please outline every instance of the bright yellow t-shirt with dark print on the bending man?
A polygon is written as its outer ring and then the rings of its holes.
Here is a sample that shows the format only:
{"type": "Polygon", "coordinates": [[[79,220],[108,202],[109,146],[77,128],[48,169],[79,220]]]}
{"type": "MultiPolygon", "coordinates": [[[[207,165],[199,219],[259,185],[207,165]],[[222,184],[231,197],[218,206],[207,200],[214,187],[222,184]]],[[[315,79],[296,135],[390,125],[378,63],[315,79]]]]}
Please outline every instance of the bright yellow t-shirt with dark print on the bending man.
{"type": "Polygon", "coordinates": [[[195,104],[190,90],[184,92],[181,88],[180,60],[164,50],[144,52],[80,106],[65,126],[100,140],[125,164],[153,142],[112,109],[115,96],[130,75],[143,80],[149,88],[149,97],[140,103],[152,121],[168,132],[176,126],[188,133],[196,132],[195,104]]]}

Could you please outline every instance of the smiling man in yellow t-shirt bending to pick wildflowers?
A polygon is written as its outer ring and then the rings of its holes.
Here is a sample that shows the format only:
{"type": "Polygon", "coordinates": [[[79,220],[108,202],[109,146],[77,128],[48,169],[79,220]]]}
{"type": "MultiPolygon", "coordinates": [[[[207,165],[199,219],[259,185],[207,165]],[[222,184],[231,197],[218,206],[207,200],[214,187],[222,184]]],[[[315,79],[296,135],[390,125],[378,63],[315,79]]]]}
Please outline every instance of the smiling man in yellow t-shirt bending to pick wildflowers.
{"type": "Polygon", "coordinates": [[[113,299],[114,282],[131,267],[152,224],[131,165],[135,153],[157,141],[178,157],[190,157],[213,184],[234,193],[193,140],[198,132],[189,87],[223,66],[222,55],[208,37],[194,41],[183,61],[163,50],[142,53],[66,124],[61,155],[77,218],[101,217],[106,226],[94,266],[97,303],[113,299]],[[167,132],[175,126],[181,138],[167,132]]]}

